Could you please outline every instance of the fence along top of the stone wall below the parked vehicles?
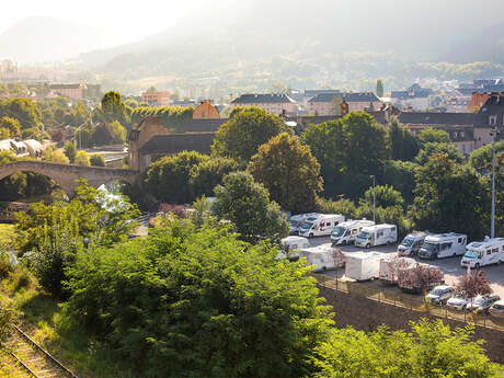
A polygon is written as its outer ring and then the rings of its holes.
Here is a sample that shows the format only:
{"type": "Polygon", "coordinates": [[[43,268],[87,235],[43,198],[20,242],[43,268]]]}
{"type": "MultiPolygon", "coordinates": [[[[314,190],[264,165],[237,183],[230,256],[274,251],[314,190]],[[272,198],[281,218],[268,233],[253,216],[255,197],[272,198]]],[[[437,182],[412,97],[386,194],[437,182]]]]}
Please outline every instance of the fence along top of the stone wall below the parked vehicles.
{"type": "Polygon", "coordinates": [[[347,282],[325,274],[313,274],[313,277],[319,285],[328,289],[365,297],[380,303],[402,307],[412,311],[424,312],[428,316],[436,316],[463,322],[466,324],[473,324],[504,332],[504,319],[497,319],[484,313],[457,311],[446,306],[434,306],[426,302],[422,296],[409,295],[400,291],[397,286],[386,286],[377,282],[347,282]]]}

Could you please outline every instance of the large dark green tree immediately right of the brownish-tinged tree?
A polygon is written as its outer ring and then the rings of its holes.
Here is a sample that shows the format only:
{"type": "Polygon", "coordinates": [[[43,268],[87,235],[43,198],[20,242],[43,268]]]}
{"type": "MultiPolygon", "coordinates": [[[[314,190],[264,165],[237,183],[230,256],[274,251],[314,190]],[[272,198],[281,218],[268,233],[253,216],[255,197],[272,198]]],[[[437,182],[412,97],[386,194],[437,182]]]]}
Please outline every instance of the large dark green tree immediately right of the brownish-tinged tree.
{"type": "Polygon", "coordinates": [[[390,154],[387,130],[364,112],[310,125],[302,134],[321,165],[324,193],[358,198],[390,154]]]}

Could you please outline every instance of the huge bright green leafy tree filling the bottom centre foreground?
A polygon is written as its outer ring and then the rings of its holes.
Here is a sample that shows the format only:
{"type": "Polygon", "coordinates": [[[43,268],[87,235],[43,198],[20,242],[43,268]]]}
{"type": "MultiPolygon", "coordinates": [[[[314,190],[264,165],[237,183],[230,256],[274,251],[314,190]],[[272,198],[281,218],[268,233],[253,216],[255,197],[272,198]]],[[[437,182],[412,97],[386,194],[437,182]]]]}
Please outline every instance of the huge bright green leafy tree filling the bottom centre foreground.
{"type": "Polygon", "coordinates": [[[277,252],[173,221],[80,253],[65,310],[137,376],[305,377],[331,320],[307,268],[277,252]]]}

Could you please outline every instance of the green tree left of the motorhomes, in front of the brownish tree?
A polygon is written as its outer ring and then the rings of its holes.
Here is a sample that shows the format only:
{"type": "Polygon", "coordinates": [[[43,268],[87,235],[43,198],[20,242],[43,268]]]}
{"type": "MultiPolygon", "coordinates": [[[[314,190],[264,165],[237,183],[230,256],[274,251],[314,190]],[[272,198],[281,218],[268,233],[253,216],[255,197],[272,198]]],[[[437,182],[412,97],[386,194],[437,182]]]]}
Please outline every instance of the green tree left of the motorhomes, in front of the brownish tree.
{"type": "Polygon", "coordinates": [[[288,225],[279,206],[270,202],[267,190],[245,172],[225,176],[215,188],[214,213],[230,220],[245,241],[279,240],[288,234],[288,225]]]}

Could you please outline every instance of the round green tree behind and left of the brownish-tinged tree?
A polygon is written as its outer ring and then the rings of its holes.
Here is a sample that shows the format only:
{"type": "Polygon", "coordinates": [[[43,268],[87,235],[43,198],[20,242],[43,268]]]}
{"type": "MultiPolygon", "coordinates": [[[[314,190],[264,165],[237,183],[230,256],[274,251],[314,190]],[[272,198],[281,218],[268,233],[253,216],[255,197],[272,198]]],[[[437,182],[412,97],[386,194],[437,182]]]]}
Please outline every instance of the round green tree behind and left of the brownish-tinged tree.
{"type": "Polygon", "coordinates": [[[229,121],[219,126],[211,150],[245,164],[259,146],[284,131],[289,131],[285,122],[262,108],[234,108],[229,121]]]}

